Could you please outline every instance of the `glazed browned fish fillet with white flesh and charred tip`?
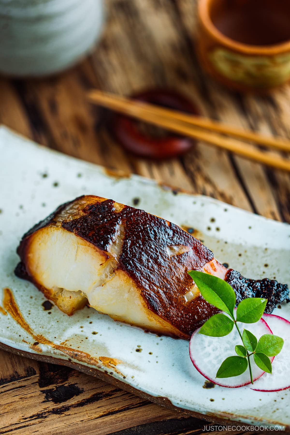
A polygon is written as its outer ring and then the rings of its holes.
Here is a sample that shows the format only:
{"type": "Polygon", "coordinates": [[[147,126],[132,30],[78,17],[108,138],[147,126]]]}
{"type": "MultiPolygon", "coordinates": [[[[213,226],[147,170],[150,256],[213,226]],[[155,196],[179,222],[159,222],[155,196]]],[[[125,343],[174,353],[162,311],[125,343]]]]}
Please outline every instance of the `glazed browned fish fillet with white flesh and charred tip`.
{"type": "Polygon", "coordinates": [[[237,301],[268,298],[267,312],[288,295],[277,281],[247,280],[225,268],[177,225],[92,195],[58,207],[24,234],[17,253],[17,276],[64,313],[88,304],[115,320],[178,338],[189,338],[217,312],[188,270],[225,279],[237,301]]]}

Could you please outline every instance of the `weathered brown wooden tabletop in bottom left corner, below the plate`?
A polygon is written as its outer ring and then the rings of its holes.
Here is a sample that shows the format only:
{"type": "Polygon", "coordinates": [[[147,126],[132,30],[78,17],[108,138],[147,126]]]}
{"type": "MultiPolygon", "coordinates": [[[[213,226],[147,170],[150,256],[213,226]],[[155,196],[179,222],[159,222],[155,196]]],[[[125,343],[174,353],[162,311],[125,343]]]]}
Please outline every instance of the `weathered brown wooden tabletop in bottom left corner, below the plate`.
{"type": "Polygon", "coordinates": [[[70,368],[4,351],[0,361],[0,434],[81,434],[85,427],[88,434],[105,435],[189,418],[70,368]]]}

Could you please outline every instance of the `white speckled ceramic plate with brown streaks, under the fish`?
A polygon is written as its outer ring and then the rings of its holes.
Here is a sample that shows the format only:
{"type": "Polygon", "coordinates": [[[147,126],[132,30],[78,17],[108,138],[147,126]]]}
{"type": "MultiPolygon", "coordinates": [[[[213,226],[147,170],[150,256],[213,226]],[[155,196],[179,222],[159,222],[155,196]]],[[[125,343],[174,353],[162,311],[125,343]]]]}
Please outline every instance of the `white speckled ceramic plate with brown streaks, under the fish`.
{"type": "MultiPolygon", "coordinates": [[[[144,333],[92,308],[83,308],[71,317],[56,307],[45,311],[42,293],[13,274],[18,261],[15,251],[23,233],[59,204],[82,194],[134,205],[183,228],[193,228],[221,263],[248,278],[276,277],[288,284],[289,225],[209,197],[177,193],[136,175],[112,176],[103,167],[33,144],[4,127],[0,128],[0,156],[0,292],[11,290],[23,316],[23,321],[17,322],[5,311],[0,313],[3,348],[29,352],[31,358],[50,356],[63,364],[71,361],[92,374],[105,372],[113,383],[122,381],[125,389],[135,388],[152,400],[167,398],[174,406],[207,419],[289,428],[289,390],[205,389],[205,379],[190,362],[187,341],[144,333]],[[42,335],[46,344],[33,345],[37,335],[42,335]],[[71,352],[63,351],[64,345],[71,352]]],[[[0,305],[2,298],[0,294],[0,305]]],[[[290,319],[290,304],[276,308],[275,313],[290,319]]]]}

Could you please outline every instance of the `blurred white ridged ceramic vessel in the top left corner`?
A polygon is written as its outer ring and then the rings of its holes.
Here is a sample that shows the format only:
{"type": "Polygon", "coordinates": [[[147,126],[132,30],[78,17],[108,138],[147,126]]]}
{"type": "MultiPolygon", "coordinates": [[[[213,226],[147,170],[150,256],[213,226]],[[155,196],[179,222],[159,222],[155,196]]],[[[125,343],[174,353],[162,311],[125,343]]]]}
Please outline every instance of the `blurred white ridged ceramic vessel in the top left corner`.
{"type": "Polygon", "coordinates": [[[93,47],[102,24],[103,0],[0,0],[0,73],[63,70],[93,47]]]}

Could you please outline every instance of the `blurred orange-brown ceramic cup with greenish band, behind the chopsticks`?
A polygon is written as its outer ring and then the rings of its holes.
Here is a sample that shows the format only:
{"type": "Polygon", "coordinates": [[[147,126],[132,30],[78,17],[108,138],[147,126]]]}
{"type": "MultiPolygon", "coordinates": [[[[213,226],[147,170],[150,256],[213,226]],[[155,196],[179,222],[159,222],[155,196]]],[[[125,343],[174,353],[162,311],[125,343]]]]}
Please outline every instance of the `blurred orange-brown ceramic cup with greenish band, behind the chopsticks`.
{"type": "Polygon", "coordinates": [[[199,0],[197,49],[224,85],[263,91],[290,80],[290,0],[199,0]]]}

